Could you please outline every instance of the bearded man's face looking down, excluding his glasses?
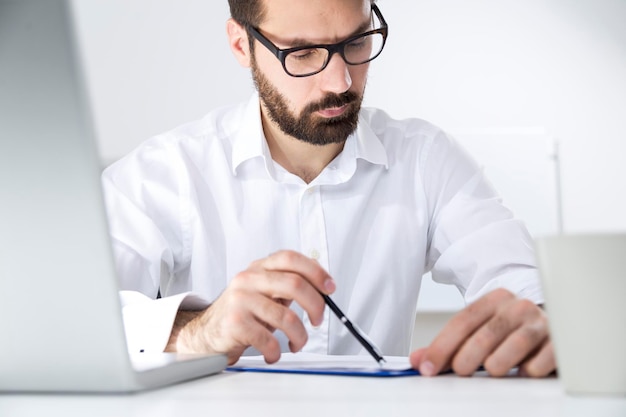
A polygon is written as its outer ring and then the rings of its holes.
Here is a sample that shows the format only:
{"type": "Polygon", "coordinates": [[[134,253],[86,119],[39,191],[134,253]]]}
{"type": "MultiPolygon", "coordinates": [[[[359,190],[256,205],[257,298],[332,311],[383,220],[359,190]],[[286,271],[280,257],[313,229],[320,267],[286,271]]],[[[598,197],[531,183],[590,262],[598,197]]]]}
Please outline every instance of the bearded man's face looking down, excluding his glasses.
{"type": "MultiPolygon", "coordinates": [[[[279,48],[339,42],[363,32],[370,3],[361,0],[272,0],[260,30],[279,48]]],[[[356,129],[368,64],[335,54],[320,73],[295,78],[255,42],[252,75],[264,115],[283,133],[315,145],[342,143],[356,129]]]]}

